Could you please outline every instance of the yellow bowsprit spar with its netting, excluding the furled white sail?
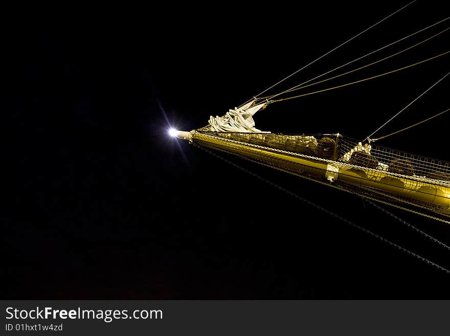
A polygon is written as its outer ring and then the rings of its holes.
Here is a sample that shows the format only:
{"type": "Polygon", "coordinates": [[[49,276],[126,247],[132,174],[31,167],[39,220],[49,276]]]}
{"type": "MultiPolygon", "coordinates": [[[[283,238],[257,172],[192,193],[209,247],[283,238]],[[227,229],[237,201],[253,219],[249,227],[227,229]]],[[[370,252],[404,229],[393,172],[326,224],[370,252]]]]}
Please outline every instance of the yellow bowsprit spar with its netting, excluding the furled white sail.
{"type": "MultiPolygon", "coordinates": [[[[191,144],[450,219],[450,163],[335,135],[176,131],[191,144]]],[[[425,213],[426,215],[426,213],[425,213]]]]}

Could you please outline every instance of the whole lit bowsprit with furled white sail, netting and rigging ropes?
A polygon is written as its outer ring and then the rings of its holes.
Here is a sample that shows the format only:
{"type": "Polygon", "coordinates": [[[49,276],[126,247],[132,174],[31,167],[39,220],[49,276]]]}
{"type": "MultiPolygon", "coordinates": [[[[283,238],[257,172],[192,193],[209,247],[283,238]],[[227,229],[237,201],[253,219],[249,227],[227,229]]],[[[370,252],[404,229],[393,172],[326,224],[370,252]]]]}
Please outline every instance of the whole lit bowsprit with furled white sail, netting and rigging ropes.
{"type": "MultiPolygon", "coordinates": [[[[218,155],[217,152],[225,152],[248,161],[306,178],[315,183],[355,194],[365,198],[370,204],[378,207],[382,211],[386,210],[380,208],[378,204],[391,206],[412,212],[419,216],[425,216],[433,220],[450,224],[450,162],[392,149],[379,144],[379,141],[382,139],[406,131],[412,127],[418,127],[431,119],[442,116],[447,113],[450,108],[436,111],[436,114],[432,117],[426,118],[413,125],[406,125],[406,127],[387,135],[378,136],[379,131],[384,129],[384,127],[398,115],[404,113],[404,111],[414,102],[426,93],[432,91],[435,86],[442,85],[445,80],[449,80],[450,76],[448,75],[450,73],[446,73],[442,77],[436,78],[436,81],[431,86],[426,87],[426,89],[424,87],[424,91],[418,97],[410,101],[398,111],[398,113],[378,127],[365,139],[357,140],[341,135],[340,133],[274,133],[272,131],[256,128],[254,120],[254,116],[258,111],[275,103],[324,93],[379,77],[389,76],[397,72],[406,71],[419,64],[433,62],[435,59],[442,57],[448,57],[450,50],[442,50],[429,57],[416,59],[414,62],[401,66],[400,68],[389,69],[383,73],[376,73],[369,77],[353,80],[344,84],[314,89],[315,85],[327,83],[336,78],[370,68],[370,66],[374,64],[390,60],[402,53],[425,44],[432,39],[443,38],[443,36],[446,36],[445,34],[447,34],[446,38],[448,39],[448,30],[450,30],[450,27],[442,27],[439,32],[430,34],[423,40],[411,44],[405,49],[363,66],[337,73],[340,69],[343,69],[356,61],[362,60],[369,55],[376,54],[381,50],[395,46],[395,44],[400,41],[407,40],[416,34],[426,32],[432,27],[448,24],[448,22],[450,22],[448,21],[450,17],[444,18],[428,27],[404,36],[403,38],[391,42],[368,54],[348,61],[319,76],[296,84],[288,89],[284,89],[281,92],[271,95],[267,94],[268,92],[273,91],[277,85],[296,75],[310,64],[327,56],[334,50],[343,47],[347,42],[362,35],[369,29],[374,28],[414,2],[415,1],[403,6],[363,32],[353,36],[338,47],[330,50],[283,80],[268,87],[252,99],[234,109],[230,109],[223,116],[211,116],[208,125],[191,131],[171,129],[171,135],[179,139],[187,140],[190,144],[199,147],[208,153],[219,156],[219,158],[220,155],[218,155]],[[330,76],[326,77],[327,75],[330,76]]],[[[227,161],[226,159],[223,160],[227,161]]],[[[386,212],[389,213],[388,211],[386,212]]],[[[340,219],[345,221],[343,218],[340,219]]],[[[401,221],[401,218],[396,219],[401,221]]],[[[360,229],[367,231],[364,228],[360,229]]],[[[421,233],[441,244],[446,249],[450,249],[446,244],[437,239],[424,232],[421,233]]],[[[374,235],[373,233],[371,234],[374,235]]],[[[401,247],[399,248],[403,249],[401,247]]],[[[415,256],[419,257],[419,259],[421,258],[418,255],[415,256]]],[[[426,261],[430,262],[428,260],[426,261]]],[[[439,265],[433,265],[448,272],[439,265]]]]}

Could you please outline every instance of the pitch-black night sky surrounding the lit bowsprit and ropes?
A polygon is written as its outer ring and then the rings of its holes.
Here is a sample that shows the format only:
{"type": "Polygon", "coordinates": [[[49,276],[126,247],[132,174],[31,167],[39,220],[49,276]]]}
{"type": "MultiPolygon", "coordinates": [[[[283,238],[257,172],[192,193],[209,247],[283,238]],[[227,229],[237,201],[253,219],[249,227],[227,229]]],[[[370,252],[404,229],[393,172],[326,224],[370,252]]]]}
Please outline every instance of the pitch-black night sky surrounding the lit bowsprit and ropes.
{"type": "MultiPolygon", "coordinates": [[[[11,14],[3,48],[2,109],[13,122],[4,146],[3,298],[450,299],[448,274],[167,135],[170,126],[205,126],[406,3],[11,14]]],[[[446,16],[441,2],[417,1],[274,92],[446,16]]],[[[445,52],[449,34],[332,83],[445,52]]],[[[449,60],[269,105],[256,127],[362,140],[444,76],[449,60]]],[[[450,107],[449,85],[442,81],[378,135],[450,107]]],[[[450,161],[449,118],[381,144],[450,161]]],[[[355,196],[227,159],[450,267],[448,250],[355,196]]],[[[450,243],[448,225],[392,212],[450,243]]]]}

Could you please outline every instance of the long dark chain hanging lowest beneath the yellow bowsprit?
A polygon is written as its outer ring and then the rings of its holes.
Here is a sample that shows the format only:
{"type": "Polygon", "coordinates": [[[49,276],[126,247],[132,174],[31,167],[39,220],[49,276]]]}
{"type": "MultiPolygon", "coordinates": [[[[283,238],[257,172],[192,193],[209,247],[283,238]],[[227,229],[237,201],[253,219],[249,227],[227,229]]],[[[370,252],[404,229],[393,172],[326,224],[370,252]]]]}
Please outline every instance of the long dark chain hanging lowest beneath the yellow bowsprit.
{"type": "Polygon", "coordinates": [[[267,184],[269,184],[269,185],[271,185],[271,186],[273,186],[273,187],[275,187],[275,188],[277,188],[277,189],[279,189],[281,191],[284,191],[285,193],[287,193],[287,194],[289,194],[291,196],[296,197],[297,199],[301,200],[302,202],[304,202],[304,203],[306,203],[306,204],[308,204],[308,205],[310,205],[310,206],[312,206],[312,207],[314,207],[316,209],[319,209],[320,211],[325,212],[326,214],[328,214],[328,215],[330,215],[332,217],[338,218],[339,220],[347,223],[348,225],[352,226],[353,228],[356,228],[356,229],[358,229],[360,231],[363,231],[363,232],[371,235],[372,237],[375,237],[375,238],[377,238],[377,239],[379,239],[381,241],[384,241],[384,242],[388,243],[389,245],[391,245],[392,247],[395,247],[396,249],[398,249],[400,251],[408,253],[408,254],[412,255],[413,257],[415,257],[415,258],[417,258],[417,259],[419,259],[419,260],[421,260],[423,262],[426,262],[426,263],[428,263],[428,264],[438,268],[439,270],[444,271],[447,274],[450,274],[449,270],[447,270],[446,268],[444,268],[444,267],[442,267],[442,266],[440,266],[440,265],[430,261],[429,259],[426,259],[426,258],[424,258],[424,257],[422,257],[422,256],[420,256],[420,255],[418,255],[418,254],[408,250],[408,249],[405,249],[405,248],[401,247],[400,245],[398,245],[398,244],[396,244],[396,243],[394,243],[394,242],[392,242],[392,241],[390,241],[390,240],[388,240],[388,239],[386,239],[384,237],[381,237],[380,235],[377,235],[376,233],[374,233],[372,231],[369,231],[369,230],[367,230],[367,229],[365,229],[365,228],[363,228],[363,227],[361,227],[361,226],[351,222],[350,220],[348,220],[348,219],[346,219],[344,217],[341,217],[340,215],[338,215],[338,214],[336,214],[336,213],[334,213],[334,212],[332,212],[330,210],[327,210],[327,209],[325,209],[325,208],[323,208],[323,207],[321,207],[321,206],[319,206],[319,205],[317,205],[315,203],[312,203],[310,200],[307,200],[307,199],[305,199],[303,197],[300,197],[299,195],[297,195],[297,194],[295,194],[295,193],[293,193],[293,192],[291,192],[291,191],[289,191],[287,189],[284,189],[283,187],[281,187],[281,186],[279,186],[279,185],[277,185],[277,184],[267,180],[266,178],[264,178],[262,176],[259,176],[258,174],[255,174],[254,172],[251,172],[250,170],[247,170],[247,169],[245,169],[245,168],[243,168],[243,167],[241,167],[241,166],[239,166],[239,165],[237,165],[237,164],[235,164],[235,163],[233,163],[233,162],[231,162],[231,161],[229,161],[229,160],[227,160],[225,158],[222,158],[222,156],[220,156],[220,155],[218,155],[218,154],[216,154],[216,153],[214,153],[214,152],[212,152],[212,151],[210,151],[210,150],[208,150],[206,148],[203,148],[203,147],[198,146],[196,144],[194,144],[194,146],[196,146],[196,147],[204,150],[205,152],[215,156],[216,158],[218,158],[218,159],[220,159],[220,160],[222,160],[222,161],[224,161],[224,162],[226,162],[226,163],[228,163],[228,164],[230,164],[230,165],[232,165],[232,166],[234,166],[234,167],[236,167],[236,168],[246,172],[247,174],[258,178],[259,180],[261,180],[261,181],[263,181],[263,182],[265,182],[265,183],[267,183],[267,184]]]}

